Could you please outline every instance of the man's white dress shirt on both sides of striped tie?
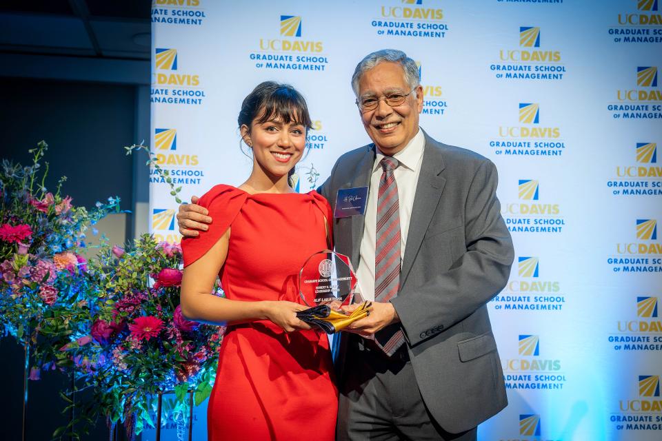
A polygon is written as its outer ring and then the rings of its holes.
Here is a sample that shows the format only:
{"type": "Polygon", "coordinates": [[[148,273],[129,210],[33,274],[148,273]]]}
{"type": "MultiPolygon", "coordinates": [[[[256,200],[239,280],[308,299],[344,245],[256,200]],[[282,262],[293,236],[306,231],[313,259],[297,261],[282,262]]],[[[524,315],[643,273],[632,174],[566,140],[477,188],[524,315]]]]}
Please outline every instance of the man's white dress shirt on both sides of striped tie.
{"type": "MultiPolygon", "coordinates": [[[[394,170],[395,182],[398,185],[399,212],[400,212],[400,265],[405,256],[405,245],[407,245],[407,234],[409,222],[412,217],[412,206],[414,205],[414,194],[419,182],[421,163],[423,162],[423,147],[425,136],[423,130],[396,154],[393,155],[400,165],[394,170]]],[[[361,238],[361,250],[357,278],[359,289],[363,300],[374,300],[374,249],[377,245],[377,197],[379,194],[379,179],[383,170],[379,162],[384,154],[377,148],[377,158],[372,165],[370,175],[370,189],[368,191],[368,206],[365,207],[365,223],[363,226],[363,237],[361,238]]]]}

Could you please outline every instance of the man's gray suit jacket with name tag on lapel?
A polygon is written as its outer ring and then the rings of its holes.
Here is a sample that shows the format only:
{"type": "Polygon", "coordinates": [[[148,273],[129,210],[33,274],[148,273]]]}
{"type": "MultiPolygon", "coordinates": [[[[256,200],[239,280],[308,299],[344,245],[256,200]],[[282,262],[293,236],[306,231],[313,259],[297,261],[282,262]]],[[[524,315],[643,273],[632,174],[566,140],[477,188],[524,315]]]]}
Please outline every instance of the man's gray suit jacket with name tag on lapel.
{"type": "MultiPolygon", "coordinates": [[[[343,154],[319,192],[335,208],[338,189],[370,185],[374,158],[372,144],[343,154]]],[[[496,181],[487,158],[425,134],[399,294],[391,303],[425,405],[453,433],[508,404],[485,306],[508,282],[514,254],[496,181]]],[[[333,233],[337,252],[357,268],[363,216],[335,218],[333,233]]],[[[340,371],[341,381],[351,375],[340,371]]]]}

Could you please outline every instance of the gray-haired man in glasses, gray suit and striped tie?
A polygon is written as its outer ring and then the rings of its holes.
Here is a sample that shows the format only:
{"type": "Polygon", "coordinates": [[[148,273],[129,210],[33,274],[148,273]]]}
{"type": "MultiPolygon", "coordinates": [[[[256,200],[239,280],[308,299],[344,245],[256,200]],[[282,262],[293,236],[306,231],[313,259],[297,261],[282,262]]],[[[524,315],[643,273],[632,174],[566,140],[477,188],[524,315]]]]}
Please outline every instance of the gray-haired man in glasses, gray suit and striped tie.
{"type": "MultiPolygon", "coordinates": [[[[475,440],[507,404],[485,304],[505,286],[512,241],[496,169],[419,128],[423,88],[404,52],[368,54],[352,88],[373,143],[343,154],[319,192],[369,187],[363,216],[334,218],[370,316],[343,333],[340,440],[475,440]]],[[[180,231],[209,220],[181,206],[180,231]]]]}

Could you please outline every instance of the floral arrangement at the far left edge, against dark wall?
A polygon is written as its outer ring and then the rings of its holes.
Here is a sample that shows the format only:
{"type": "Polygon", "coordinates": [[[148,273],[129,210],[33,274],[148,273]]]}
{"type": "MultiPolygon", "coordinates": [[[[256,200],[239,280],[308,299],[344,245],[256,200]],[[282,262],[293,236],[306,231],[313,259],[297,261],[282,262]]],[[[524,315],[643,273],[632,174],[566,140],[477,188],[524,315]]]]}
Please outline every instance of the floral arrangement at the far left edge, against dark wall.
{"type": "Polygon", "coordinates": [[[53,350],[85,326],[90,290],[86,259],[86,229],[110,212],[119,212],[119,198],[97,203],[88,212],[54,193],[44,182],[48,163],[41,159],[48,145],[41,141],[30,150],[32,164],[23,167],[2,162],[0,172],[0,325],[26,348],[32,348],[30,378],[43,368],[72,365],[53,350]]]}

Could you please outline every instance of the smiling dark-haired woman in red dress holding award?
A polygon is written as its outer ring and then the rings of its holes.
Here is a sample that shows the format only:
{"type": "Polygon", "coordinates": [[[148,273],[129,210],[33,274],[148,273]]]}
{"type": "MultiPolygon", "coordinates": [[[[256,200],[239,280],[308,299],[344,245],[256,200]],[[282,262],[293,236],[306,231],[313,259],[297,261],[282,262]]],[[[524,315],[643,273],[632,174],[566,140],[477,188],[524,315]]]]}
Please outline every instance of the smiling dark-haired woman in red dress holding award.
{"type": "Polygon", "coordinates": [[[332,218],[317,192],[288,185],[305,149],[308,107],[291,86],[268,81],[244,99],[238,123],[252,172],[239,187],[217,185],[200,198],[214,222],[182,241],[184,316],[228,324],[209,439],[332,440],[338,397],[328,339],[296,316],[306,308],[298,271],[328,246],[332,218]],[[225,298],[210,294],[217,275],[225,298]]]}

